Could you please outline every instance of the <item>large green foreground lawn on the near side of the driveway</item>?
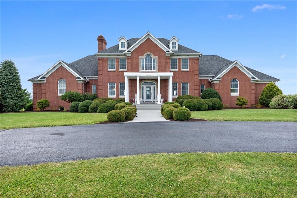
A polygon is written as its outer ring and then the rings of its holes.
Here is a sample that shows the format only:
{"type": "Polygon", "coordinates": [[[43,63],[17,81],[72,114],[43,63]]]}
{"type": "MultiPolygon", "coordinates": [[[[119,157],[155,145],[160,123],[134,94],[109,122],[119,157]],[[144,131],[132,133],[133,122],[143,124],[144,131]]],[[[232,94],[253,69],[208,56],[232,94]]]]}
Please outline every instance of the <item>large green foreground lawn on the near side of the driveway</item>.
{"type": "Polygon", "coordinates": [[[148,154],[0,168],[1,197],[296,197],[296,153],[148,154]]]}

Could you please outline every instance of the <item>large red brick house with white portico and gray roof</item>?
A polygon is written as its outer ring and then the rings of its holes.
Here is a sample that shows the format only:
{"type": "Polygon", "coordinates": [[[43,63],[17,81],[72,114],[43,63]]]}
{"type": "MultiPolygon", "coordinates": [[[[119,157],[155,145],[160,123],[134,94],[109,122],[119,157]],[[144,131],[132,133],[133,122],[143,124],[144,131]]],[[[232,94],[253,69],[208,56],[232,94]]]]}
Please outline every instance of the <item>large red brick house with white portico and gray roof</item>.
{"type": "Polygon", "coordinates": [[[238,96],[247,105],[257,104],[263,88],[279,79],[220,56],[205,56],[180,45],[178,38],[156,38],[150,32],[141,38],[118,39],[119,44],[106,48],[97,38],[98,52],[72,63],[58,61],[33,83],[33,109],[40,99],[50,101],[49,110],[70,104],[60,99],[66,91],[93,92],[99,97],[135,99],[140,102],[174,101],[179,95],[201,96],[214,88],[223,104],[236,107],[238,96]],[[160,97],[158,97],[160,96],[160,97]]]}

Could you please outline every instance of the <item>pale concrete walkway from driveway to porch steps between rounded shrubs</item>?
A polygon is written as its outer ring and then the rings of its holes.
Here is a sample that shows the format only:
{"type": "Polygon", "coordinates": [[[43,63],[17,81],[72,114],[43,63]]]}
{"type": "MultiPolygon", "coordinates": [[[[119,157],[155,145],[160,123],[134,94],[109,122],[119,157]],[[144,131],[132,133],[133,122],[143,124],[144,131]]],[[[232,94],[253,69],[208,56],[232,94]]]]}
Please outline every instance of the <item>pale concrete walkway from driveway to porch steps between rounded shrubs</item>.
{"type": "Polygon", "coordinates": [[[137,114],[135,118],[131,121],[124,122],[124,123],[131,123],[131,122],[171,122],[170,120],[166,120],[163,115],[160,113],[160,110],[137,110],[137,114]]]}

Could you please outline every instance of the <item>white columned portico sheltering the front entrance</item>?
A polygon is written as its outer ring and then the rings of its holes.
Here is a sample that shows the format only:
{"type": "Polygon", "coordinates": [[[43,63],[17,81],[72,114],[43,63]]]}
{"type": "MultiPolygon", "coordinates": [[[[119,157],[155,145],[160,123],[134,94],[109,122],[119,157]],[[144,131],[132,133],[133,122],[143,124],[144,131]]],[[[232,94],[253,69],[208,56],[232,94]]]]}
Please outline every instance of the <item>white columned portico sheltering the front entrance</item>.
{"type": "Polygon", "coordinates": [[[147,101],[152,101],[152,102],[156,101],[156,98],[157,98],[156,102],[158,104],[161,104],[161,94],[160,94],[161,80],[168,79],[168,101],[172,102],[173,72],[124,72],[124,76],[125,76],[125,102],[129,102],[129,79],[137,79],[137,97],[136,97],[137,104],[140,104],[140,97],[145,98],[147,99],[147,101]],[[140,86],[140,80],[143,80],[141,86],[140,86]],[[154,90],[154,89],[157,89],[157,90],[154,90]],[[148,94],[146,95],[145,93],[148,93],[148,94]],[[149,94],[151,94],[151,96],[149,96],[149,94]],[[157,95],[157,97],[155,95],[157,95]]]}

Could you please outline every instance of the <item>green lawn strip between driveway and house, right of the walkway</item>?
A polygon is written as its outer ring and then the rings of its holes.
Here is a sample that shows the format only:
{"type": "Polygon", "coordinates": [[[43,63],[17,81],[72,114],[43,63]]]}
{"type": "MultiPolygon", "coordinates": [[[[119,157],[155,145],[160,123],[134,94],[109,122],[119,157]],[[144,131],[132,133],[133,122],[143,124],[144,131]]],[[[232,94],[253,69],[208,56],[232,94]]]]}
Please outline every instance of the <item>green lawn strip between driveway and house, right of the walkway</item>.
{"type": "Polygon", "coordinates": [[[194,111],[192,118],[210,121],[285,121],[297,122],[297,109],[223,109],[194,111]]]}

